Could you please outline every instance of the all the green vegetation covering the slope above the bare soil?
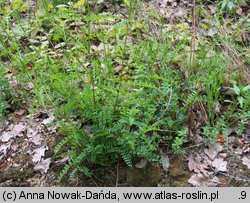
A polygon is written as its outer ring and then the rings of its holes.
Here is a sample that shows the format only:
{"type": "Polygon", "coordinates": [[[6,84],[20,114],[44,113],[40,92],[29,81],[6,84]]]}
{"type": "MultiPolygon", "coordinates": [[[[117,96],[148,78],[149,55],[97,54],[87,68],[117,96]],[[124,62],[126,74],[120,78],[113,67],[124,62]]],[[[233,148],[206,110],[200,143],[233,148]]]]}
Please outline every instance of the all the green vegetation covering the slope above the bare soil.
{"type": "Polygon", "coordinates": [[[68,157],[58,183],[93,166],[163,163],[189,145],[228,147],[232,133],[248,143],[247,11],[231,0],[1,2],[0,118],[13,95],[30,117],[53,115],[45,124],[60,139],[42,171],[68,157]]]}

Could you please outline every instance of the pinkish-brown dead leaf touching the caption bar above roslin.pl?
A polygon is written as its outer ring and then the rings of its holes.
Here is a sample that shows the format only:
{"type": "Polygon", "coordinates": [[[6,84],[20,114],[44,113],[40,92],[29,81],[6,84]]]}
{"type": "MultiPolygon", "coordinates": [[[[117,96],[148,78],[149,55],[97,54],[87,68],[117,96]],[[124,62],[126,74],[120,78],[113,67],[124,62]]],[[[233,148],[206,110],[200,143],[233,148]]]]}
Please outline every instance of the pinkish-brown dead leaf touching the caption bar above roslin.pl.
{"type": "Polygon", "coordinates": [[[220,183],[220,180],[216,176],[211,179],[203,174],[193,174],[191,178],[188,179],[188,183],[195,187],[215,187],[220,183]]]}

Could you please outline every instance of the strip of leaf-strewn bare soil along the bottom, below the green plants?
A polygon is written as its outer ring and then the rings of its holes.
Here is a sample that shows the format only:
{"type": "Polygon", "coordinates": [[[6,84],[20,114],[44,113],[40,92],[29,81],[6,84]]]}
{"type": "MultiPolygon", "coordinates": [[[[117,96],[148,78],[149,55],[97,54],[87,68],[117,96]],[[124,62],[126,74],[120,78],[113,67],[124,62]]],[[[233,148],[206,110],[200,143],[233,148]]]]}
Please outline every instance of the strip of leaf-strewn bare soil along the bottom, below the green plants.
{"type": "MultiPolygon", "coordinates": [[[[42,112],[29,118],[27,111],[21,109],[1,127],[1,146],[8,148],[1,150],[0,186],[58,185],[56,177],[69,159],[56,160],[54,156],[53,149],[61,138],[56,127],[49,127],[51,118],[52,115],[42,112]],[[49,160],[49,164],[44,163],[45,160],[49,160]]],[[[250,186],[250,169],[243,164],[243,157],[250,154],[249,124],[243,138],[236,139],[232,133],[232,143],[228,147],[217,143],[214,148],[206,148],[204,144],[190,143],[182,158],[171,157],[166,150],[166,153],[161,152],[162,164],[138,160],[133,168],[123,163],[107,168],[90,166],[92,177],[77,176],[71,181],[65,178],[60,185],[250,186]],[[217,160],[217,165],[213,160],[217,160]]]]}

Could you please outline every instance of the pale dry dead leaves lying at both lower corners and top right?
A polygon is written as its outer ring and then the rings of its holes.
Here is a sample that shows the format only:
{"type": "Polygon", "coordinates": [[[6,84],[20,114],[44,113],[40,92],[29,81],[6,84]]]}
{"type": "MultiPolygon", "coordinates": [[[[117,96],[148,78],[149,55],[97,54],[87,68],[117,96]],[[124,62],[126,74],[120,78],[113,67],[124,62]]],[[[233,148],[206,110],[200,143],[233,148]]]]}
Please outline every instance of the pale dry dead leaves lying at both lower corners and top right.
{"type": "MultiPolygon", "coordinates": [[[[183,16],[190,12],[190,10],[184,8],[185,5],[189,4],[189,1],[156,0],[155,2],[158,3],[158,10],[165,15],[165,20],[169,22],[173,22],[175,20],[183,22],[183,16]],[[179,7],[177,7],[177,2],[180,2],[179,7]]],[[[209,5],[208,7],[213,14],[215,12],[215,8],[212,5],[209,5]]],[[[237,9],[237,13],[242,15],[241,7],[237,9]]],[[[214,30],[210,30],[208,34],[214,35],[214,30]]],[[[116,71],[119,72],[120,67],[117,66],[116,71]]],[[[16,79],[12,80],[12,82],[17,83],[16,79]]],[[[32,90],[33,87],[34,85],[32,83],[27,84],[28,90],[32,90]]],[[[31,155],[29,157],[29,161],[33,163],[34,170],[39,171],[41,174],[45,174],[49,171],[49,167],[52,162],[52,158],[47,158],[45,156],[45,152],[50,148],[49,144],[53,141],[53,135],[56,133],[56,127],[48,127],[46,125],[51,124],[54,118],[49,115],[49,113],[38,112],[37,117],[34,117],[32,122],[29,122],[27,118],[24,118],[26,113],[27,111],[24,109],[14,112],[14,114],[21,117],[19,120],[20,122],[11,123],[5,128],[5,130],[0,130],[0,141],[3,142],[0,142],[0,163],[1,161],[6,161],[7,157],[15,156],[17,154],[25,154],[25,152],[29,151],[31,155]],[[23,140],[24,143],[19,142],[20,139],[18,138],[20,137],[25,138],[23,140]]],[[[249,137],[249,135],[247,136],[249,137]]],[[[199,143],[201,142],[202,138],[199,143]]],[[[249,169],[249,144],[238,144],[236,148],[231,150],[239,156],[242,164],[246,165],[249,169]]],[[[193,186],[216,186],[220,184],[220,180],[216,176],[216,172],[227,173],[229,164],[229,162],[226,161],[227,156],[223,155],[225,154],[223,153],[223,146],[216,143],[215,145],[209,145],[207,149],[200,153],[194,151],[191,153],[193,153],[193,155],[188,157],[188,168],[193,172],[193,175],[190,177],[188,182],[193,186]],[[211,168],[213,170],[210,170],[211,168]]],[[[63,157],[55,163],[65,164],[69,160],[69,157],[63,157]]],[[[15,167],[20,164],[13,163],[12,165],[15,167]]],[[[171,165],[171,163],[169,163],[168,157],[163,157],[162,167],[165,172],[168,171],[169,165],[171,165]]],[[[139,168],[143,168],[144,163],[140,163],[138,166],[139,168]]],[[[41,180],[42,178],[39,179],[41,180]]],[[[33,180],[36,180],[36,178],[33,180]]],[[[37,184],[35,183],[34,185],[37,184]]]]}

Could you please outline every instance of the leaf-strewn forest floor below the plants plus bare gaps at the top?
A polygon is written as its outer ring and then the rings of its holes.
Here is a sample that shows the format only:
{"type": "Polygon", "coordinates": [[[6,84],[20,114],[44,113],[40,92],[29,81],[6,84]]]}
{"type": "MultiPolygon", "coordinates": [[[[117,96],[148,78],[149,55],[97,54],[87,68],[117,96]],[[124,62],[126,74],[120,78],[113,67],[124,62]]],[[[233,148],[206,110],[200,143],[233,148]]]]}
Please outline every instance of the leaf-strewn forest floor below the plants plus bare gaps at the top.
{"type": "MultiPolygon", "coordinates": [[[[165,16],[164,23],[172,25],[190,22],[187,19],[192,13],[190,1],[149,0],[143,7],[144,10],[156,9],[165,16]]],[[[207,4],[205,8],[213,15],[213,5],[207,4]]],[[[101,4],[99,9],[127,13],[119,4],[101,4]]],[[[247,11],[239,6],[237,15],[247,15],[247,11]]],[[[212,29],[209,31],[213,37],[215,33],[212,29]]],[[[7,77],[15,84],[13,75],[14,71],[10,70],[7,77]]],[[[26,85],[33,89],[31,82],[26,85]]],[[[0,186],[250,186],[249,119],[241,134],[239,124],[229,126],[227,141],[222,132],[216,142],[211,143],[203,140],[202,133],[194,133],[191,141],[183,143],[182,156],[172,153],[169,141],[162,141],[158,147],[161,162],[136,158],[133,167],[122,161],[108,167],[89,164],[92,176],[77,175],[58,183],[57,177],[70,157],[56,159],[54,149],[64,135],[53,122],[53,111],[50,108],[34,110],[27,103],[18,109],[10,105],[9,111],[0,125],[0,186]]]]}

